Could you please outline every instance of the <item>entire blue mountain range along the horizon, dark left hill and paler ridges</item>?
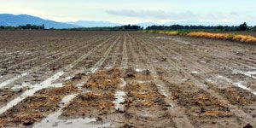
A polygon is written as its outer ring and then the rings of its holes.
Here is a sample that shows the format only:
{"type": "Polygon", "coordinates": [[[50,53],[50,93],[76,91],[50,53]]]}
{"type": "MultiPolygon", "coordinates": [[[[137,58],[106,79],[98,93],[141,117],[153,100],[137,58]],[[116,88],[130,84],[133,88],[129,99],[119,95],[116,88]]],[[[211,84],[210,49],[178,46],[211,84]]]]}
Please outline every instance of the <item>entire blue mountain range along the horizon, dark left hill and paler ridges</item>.
{"type": "MultiPolygon", "coordinates": [[[[247,22],[250,26],[255,26],[256,22],[247,22]]],[[[37,16],[32,15],[10,15],[10,14],[0,14],[0,26],[24,26],[26,24],[38,25],[41,26],[44,24],[45,28],[74,28],[74,27],[102,27],[102,26],[122,26],[119,23],[113,23],[109,21],[92,21],[92,20],[79,20],[75,22],[57,22],[54,20],[44,20],[37,16]]],[[[153,25],[202,25],[202,26],[238,26],[240,22],[213,22],[213,21],[196,21],[196,20],[183,20],[183,21],[171,21],[162,24],[154,23],[154,22],[143,22],[137,23],[138,26],[143,26],[144,28],[147,26],[153,25]]]]}

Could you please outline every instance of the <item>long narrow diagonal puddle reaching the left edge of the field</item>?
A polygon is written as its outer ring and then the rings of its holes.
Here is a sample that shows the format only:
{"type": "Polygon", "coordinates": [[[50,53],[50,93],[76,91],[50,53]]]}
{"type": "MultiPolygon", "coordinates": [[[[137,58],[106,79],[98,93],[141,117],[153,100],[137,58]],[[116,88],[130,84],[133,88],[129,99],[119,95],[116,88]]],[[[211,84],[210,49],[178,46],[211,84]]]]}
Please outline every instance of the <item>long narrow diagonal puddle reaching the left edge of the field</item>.
{"type": "Polygon", "coordinates": [[[17,105],[19,102],[24,100],[27,96],[33,96],[34,93],[36,93],[38,90],[42,90],[48,87],[53,87],[55,84],[51,84],[51,83],[59,79],[63,74],[64,72],[55,73],[53,76],[51,76],[49,79],[44,80],[42,83],[33,85],[32,89],[26,90],[24,93],[21,94],[21,96],[8,102],[8,104],[3,108],[0,108],[0,113],[6,112],[9,108],[12,108],[13,106],[17,105]]]}

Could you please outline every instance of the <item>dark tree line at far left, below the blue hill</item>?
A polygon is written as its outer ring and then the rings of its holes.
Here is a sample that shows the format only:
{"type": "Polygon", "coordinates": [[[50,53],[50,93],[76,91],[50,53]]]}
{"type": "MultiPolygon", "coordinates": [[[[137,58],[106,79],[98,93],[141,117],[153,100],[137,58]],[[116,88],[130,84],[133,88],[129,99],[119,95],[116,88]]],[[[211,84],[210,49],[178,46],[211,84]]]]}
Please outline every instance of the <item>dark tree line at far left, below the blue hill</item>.
{"type": "Polygon", "coordinates": [[[36,26],[27,24],[26,26],[0,26],[0,30],[44,30],[44,24],[42,26],[36,26]]]}

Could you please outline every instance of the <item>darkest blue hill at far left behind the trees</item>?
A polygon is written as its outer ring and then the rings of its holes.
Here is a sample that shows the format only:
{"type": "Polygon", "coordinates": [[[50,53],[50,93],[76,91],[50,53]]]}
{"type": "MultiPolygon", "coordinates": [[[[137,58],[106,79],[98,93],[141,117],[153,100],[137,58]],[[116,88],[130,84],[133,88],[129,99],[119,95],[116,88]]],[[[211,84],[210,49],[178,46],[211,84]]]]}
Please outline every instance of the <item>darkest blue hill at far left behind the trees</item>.
{"type": "Polygon", "coordinates": [[[79,27],[67,23],[56,22],[54,20],[44,20],[42,18],[32,15],[0,15],[0,26],[24,26],[26,24],[32,24],[41,26],[44,24],[45,28],[73,28],[79,27]]]}

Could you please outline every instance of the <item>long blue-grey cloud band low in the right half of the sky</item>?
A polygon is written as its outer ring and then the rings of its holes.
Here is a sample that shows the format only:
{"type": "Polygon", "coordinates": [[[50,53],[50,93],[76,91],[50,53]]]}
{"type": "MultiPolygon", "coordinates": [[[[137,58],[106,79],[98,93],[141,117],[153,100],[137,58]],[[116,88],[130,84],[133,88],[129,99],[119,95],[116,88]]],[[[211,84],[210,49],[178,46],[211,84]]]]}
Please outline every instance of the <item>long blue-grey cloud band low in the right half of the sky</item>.
{"type": "Polygon", "coordinates": [[[166,12],[163,10],[107,10],[108,15],[118,15],[130,18],[155,19],[155,20],[205,20],[205,21],[241,21],[252,20],[256,18],[252,15],[242,15],[237,12],[214,12],[214,13],[197,13],[184,11],[179,13],[166,12]]]}

